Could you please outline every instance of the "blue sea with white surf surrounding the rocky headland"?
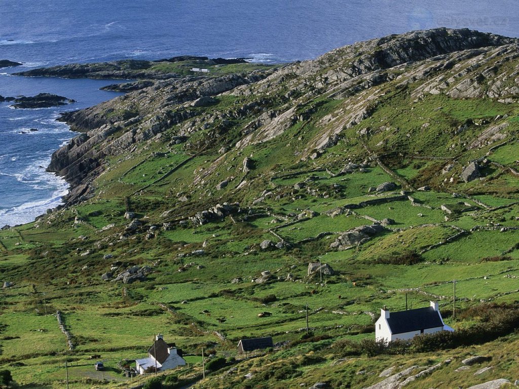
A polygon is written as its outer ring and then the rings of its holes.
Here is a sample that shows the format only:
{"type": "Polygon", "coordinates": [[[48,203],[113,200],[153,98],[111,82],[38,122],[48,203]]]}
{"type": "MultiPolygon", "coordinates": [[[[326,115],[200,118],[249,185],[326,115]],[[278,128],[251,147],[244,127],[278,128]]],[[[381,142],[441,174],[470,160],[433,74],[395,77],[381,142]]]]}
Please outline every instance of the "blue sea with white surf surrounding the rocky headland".
{"type": "Polygon", "coordinates": [[[0,103],[0,226],[26,223],[57,206],[67,185],[45,173],[53,150],[74,133],[65,110],[108,100],[111,81],[23,78],[28,68],[193,54],[277,63],[336,47],[438,26],[518,36],[516,0],[0,0],[0,95],[56,93],[65,107],[12,109],[0,103]],[[38,131],[30,131],[36,128],[38,131]]]}

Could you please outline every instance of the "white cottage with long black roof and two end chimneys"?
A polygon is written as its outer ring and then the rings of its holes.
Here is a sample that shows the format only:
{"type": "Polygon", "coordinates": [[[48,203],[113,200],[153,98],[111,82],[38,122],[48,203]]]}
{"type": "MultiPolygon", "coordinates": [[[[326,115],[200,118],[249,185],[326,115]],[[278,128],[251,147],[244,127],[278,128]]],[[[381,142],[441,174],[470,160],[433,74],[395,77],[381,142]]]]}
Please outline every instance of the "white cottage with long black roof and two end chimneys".
{"type": "Polygon", "coordinates": [[[389,312],[381,309],[375,323],[375,340],[392,342],[397,339],[412,339],[420,334],[434,334],[438,331],[454,331],[443,322],[438,302],[431,301],[430,307],[389,312]]]}

